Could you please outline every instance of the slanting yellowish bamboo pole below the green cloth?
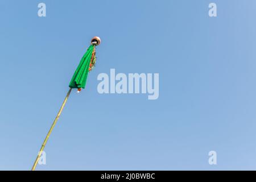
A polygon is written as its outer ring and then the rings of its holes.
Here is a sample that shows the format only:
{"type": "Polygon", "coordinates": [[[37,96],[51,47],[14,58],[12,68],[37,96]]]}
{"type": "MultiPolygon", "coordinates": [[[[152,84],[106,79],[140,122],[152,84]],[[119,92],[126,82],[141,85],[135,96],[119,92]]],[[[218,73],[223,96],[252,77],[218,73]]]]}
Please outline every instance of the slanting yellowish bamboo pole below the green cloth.
{"type": "Polygon", "coordinates": [[[65,104],[66,104],[66,102],[67,102],[67,100],[68,100],[68,97],[69,97],[69,94],[71,93],[71,90],[72,90],[72,88],[70,88],[70,89],[68,90],[67,96],[65,97],[65,100],[63,101],[63,104],[61,105],[60,110],[59,110],[58,114],[56,115],[56,118],[54,119],[54,121],[53,121],[53,123],[52,123],[52,126],[51,126],[51,128],[49,129],[49,131],[48,131],[48,134],[46,135],[46,138],[44,139],[44,142],[43,142],[43,144],[42,144],[42,147],[40,148],[40,151],[38,152],[38,156],[36,157],[35,163],[34,163],[32,169],[31,169],[31,171],[35,171],[36,165],[38,164],[38,161],[39,161],[39,159],[40,159],[40,156],[42,155],[42,152],[43,152],[43,150],[44,150],[44,147],[46,146],[47,140],[49,139],[49,135],[51,135],[52,130],[53,130],[54,126],[56,125],[56,123],[57,123],[57,121],[58,121],[58,119],[59,119],[59,117],[60,117],[60,114],[61,114],[61,112],[62,112],[62,110],[63,110],[63,108],[64,108],[64,106],[65,106],[65,104]]]}

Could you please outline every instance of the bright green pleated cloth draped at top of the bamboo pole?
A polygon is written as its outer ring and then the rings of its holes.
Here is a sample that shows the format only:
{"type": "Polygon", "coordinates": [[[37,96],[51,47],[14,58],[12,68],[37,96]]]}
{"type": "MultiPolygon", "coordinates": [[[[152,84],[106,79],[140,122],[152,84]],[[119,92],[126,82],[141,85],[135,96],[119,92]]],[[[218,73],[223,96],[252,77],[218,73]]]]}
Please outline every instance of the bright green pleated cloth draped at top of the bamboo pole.
{"type": "Polygon", "coordinates": [[[93,49],[94,45],[91,45],[85,52],[84,56],[82,56],[79,66],[76,68],[76,71],[69,83],[70,88],[85,88],[93,49]]]}

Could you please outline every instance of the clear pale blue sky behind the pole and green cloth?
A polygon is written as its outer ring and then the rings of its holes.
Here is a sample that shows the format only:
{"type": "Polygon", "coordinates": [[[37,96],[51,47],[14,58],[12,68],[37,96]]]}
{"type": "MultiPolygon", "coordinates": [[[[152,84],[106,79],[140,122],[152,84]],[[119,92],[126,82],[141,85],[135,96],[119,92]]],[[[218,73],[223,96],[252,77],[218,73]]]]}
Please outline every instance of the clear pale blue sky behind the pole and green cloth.
{"type": "Polygon", "coordinates": [[[96,68],[86,89],[71,93],[38,170],[255,170],[255,6],[1,0],[0,169],[31,169],[77,64],[100,36],[96,68]],[[97,76],[110,68],[159,73],[158,100],[99,94],[97,76]],[[212,150],[217,165],[208,163],[212,150]]]}

